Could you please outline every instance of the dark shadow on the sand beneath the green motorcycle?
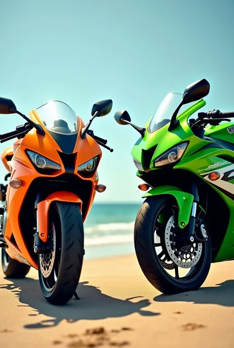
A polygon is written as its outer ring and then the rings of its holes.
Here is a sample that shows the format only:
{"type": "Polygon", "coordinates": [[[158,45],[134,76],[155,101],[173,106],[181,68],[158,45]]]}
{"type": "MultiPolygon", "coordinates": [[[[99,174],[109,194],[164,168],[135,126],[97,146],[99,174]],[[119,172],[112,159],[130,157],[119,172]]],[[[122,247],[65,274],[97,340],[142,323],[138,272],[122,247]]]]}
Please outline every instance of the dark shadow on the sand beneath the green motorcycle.
{"type": "Polygon", "coordinates": [[[176,295],[159,295],[155,302],[193,302],[194,304],[220,305],[234,307],[234,279],[212,287],[203,287],[197,291],[190,291],[176,295]]]}

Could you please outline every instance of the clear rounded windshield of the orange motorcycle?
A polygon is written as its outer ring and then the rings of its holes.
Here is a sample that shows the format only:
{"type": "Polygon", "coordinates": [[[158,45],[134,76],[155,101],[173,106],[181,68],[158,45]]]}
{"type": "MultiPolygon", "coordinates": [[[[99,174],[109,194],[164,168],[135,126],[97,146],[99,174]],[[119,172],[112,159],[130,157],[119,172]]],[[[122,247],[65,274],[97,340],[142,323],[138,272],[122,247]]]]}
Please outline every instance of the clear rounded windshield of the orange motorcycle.
{"type": "Polygon", "coordinates": [[[53,101],[36,110],[47,129],[62,134],[77,133],[77,115],[67,104],[53,101]]]}

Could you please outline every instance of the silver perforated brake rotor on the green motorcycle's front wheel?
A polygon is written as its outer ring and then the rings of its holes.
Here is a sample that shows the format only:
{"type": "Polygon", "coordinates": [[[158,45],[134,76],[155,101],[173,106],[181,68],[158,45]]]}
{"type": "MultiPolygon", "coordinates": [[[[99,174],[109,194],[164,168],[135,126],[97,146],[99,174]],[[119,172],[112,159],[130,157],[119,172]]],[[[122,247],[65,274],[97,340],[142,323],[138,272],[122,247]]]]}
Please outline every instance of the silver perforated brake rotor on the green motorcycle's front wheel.
{"type": "Polygon", "coordinates": [[[166,250],[177,266],[181,268],[191,268],[194,267],[201,257],[202,243],[191,243],[184,246],[177,246],[178,242],[174,240],[174,236],[178,236],[180,231],[175,229],[175,219],[174,216],[168,220],[165,229],[165,244],[166,250]]]}

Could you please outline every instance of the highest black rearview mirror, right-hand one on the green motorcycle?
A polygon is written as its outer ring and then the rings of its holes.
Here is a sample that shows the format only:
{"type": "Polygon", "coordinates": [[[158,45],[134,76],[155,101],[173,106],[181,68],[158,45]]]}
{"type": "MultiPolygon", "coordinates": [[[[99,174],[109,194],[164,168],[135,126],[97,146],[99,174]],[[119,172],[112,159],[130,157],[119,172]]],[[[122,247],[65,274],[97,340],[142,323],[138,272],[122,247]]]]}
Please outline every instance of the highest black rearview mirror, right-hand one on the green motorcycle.
{"type": "Polygon", "coordinates": [[[209,91],[210,84],[205,78],[195,81],[185,88],[183,94],[183,104],[192,103],[196,100],[202,99],[207,96],[209,91]]]}

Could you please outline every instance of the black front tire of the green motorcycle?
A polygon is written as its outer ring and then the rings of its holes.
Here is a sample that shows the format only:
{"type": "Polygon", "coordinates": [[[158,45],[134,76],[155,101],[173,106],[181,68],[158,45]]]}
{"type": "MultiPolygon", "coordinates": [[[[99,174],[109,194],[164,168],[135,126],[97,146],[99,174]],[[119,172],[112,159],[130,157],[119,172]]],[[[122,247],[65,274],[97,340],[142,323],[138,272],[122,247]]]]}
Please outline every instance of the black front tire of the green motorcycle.
{"type": "Polygon", "coordinates": [[[154,230],[160,211],[163,207],[173,204],[175,205],[169,195],[147,198],[138,212],[134,229],[134,244],[139,265],[149,282],[167,295],[197,290],[209,273],[212,252],[208,229],[202,220],[208,240],[202,245],[200,259],[191,275],[184,280],[178,280],[163,268],[156,254],[154,230]]]}

